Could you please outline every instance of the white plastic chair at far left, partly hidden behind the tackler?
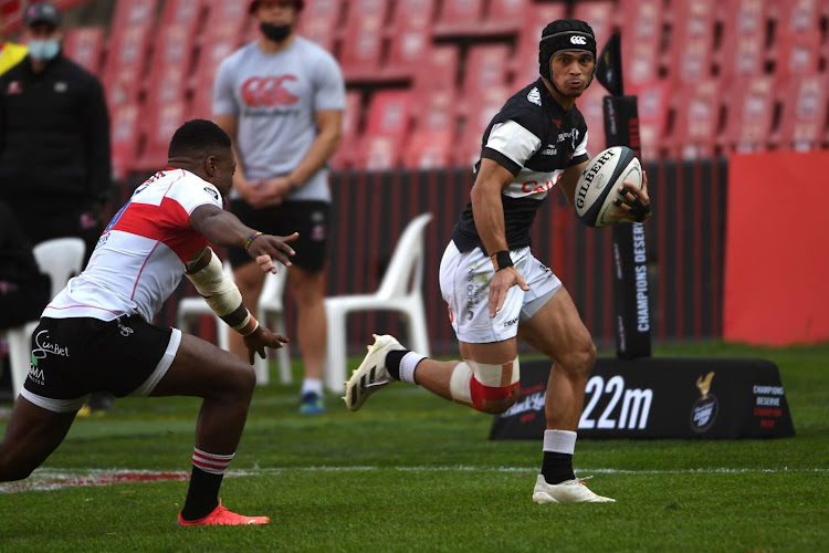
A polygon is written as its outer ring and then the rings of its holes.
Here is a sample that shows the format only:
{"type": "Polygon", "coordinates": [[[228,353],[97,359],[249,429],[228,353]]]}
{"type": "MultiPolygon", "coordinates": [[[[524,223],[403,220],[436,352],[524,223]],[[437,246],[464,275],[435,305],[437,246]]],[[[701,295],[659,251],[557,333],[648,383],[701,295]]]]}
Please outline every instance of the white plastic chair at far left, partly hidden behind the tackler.
{"type": "MultiPolygon", "coordinates": [[[[54,298],[63,290],[69,280],[80,274],[83,269],[86,244],[80,238],[54,238],[33,248],[34,260],[41,272],[52,280],[54,298]]],[[[9,364],[11,365],[11,389],[14,397],[20,394],[31,365],[31,337],[38,321],[30,321],[6,333],[9,343],[9,364]]]]}

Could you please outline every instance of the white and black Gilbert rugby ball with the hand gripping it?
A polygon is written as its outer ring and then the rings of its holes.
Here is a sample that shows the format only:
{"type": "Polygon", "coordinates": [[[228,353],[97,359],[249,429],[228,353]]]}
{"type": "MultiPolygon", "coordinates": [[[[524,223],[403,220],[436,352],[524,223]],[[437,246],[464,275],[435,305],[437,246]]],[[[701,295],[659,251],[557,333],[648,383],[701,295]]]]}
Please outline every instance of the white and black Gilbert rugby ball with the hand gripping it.
{"type": "Polygon", "coordinates": [[[590,159],[576,184],[576,215],[588,227],[650,219],[648,177],[636,153],[612,146],[590,159]]]}

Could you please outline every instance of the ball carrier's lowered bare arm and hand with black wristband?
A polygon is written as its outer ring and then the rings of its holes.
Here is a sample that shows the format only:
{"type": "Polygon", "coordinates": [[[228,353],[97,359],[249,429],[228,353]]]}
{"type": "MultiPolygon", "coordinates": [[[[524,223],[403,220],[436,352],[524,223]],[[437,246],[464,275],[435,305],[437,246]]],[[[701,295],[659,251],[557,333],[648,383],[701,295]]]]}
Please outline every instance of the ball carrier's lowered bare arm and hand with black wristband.
{"type": "MultiPolygon", "coordinates": [[[[475,215],[478,233],[490,255],[508,250],[504,234],[504,207],[501,202],[501,192],[514,178],[515,176],[499,163],[489,158],[481,159],[481,169],[471,192],[472,212],[475,215]]],[[[529,290],[524,282],[524,276],[514,267],[495,271],[490,283],[491,317],[494,317],[504,305],[507,290],[515,284],[522,290],[529,290]]]]}

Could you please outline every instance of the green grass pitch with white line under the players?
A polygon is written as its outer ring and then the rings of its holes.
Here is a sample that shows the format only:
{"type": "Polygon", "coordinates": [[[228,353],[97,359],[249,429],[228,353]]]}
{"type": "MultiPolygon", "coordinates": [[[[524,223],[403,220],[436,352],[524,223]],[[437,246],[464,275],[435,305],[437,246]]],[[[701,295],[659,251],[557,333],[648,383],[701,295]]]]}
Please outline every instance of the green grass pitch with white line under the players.
{"type": "Polygon", "coordinates": [[[396,384],[357,414],[329,397],[328,415],[301,417],[297,387],[271,385],[256,390],[222,499],[272,523],[181,529],[182,480],[43,489],[189,472],[198,401],[129,398],[78,419],[30,480],[0,484],[0,551],[829,551],[829,344],[654,355],[774,361],[797,436],[581,440],[577,474],[617,503],[536,505],[541,442],[487,441],[490,416],[396,384]]]}

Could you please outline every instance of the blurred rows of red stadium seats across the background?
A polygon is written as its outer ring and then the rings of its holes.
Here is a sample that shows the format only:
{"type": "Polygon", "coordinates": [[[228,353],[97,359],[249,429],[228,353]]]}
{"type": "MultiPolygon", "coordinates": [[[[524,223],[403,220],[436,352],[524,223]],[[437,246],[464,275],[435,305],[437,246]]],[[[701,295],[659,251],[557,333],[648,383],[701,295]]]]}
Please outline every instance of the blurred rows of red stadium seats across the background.
{"type": "MultiPolygon", "coordinates": [[[[22,1],[3,2],[20,31],[22,1]]],[[[117,178],[155,170],[186,119],[211,116],[219,63],[256,34],[242,0],[57,0],[66,54],[101,77],[117,178]]],[[[298,33],[347,83],[334,169],[469,167],[491,116],[537,79],[549,21],[621,32],[625,92],[639,96],[642,157],[829,147],[827,0],[308,0],[298,33]]],[[[594,83],[578,102],[605,146],[594,83]]]]}

